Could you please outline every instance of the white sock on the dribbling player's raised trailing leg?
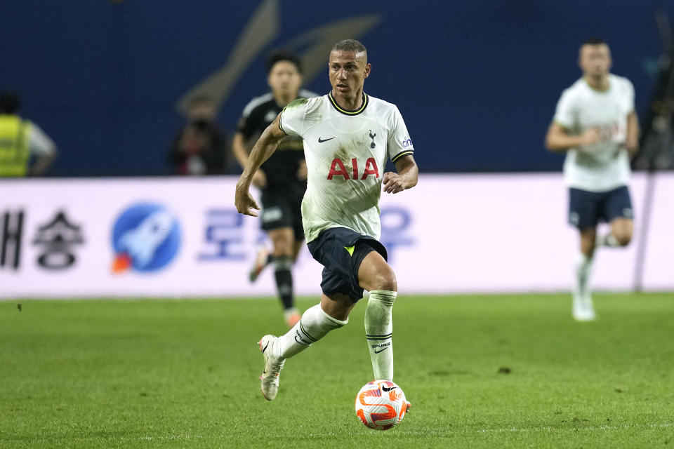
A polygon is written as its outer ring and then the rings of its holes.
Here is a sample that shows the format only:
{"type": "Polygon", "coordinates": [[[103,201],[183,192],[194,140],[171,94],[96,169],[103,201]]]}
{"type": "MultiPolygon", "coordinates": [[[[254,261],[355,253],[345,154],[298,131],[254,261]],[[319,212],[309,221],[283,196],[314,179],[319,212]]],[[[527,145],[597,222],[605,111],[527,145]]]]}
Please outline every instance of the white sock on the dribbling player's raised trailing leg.
{"type": "Polygon", "coordinates": [[[334,319],[321,309],[321,304],[316,304],[302,314],[300,321],[291,330],[279,337],[274,346],[274,355],[290,358],[325,337],[331,330],[341,328],[348,322],[348,319],[334,319]]]}

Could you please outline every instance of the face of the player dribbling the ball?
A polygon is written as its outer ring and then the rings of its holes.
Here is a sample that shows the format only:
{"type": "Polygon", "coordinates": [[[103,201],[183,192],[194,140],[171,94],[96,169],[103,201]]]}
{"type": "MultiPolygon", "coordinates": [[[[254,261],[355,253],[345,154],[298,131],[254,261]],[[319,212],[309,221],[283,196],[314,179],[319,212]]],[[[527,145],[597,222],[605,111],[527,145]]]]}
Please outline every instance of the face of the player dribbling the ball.
{"type": "Polygon", "coordinates": [[[332,51],[328,62],[330,83],[335,95],[351,97],[363,90],[370,74],[365,52],[332,51]]]}

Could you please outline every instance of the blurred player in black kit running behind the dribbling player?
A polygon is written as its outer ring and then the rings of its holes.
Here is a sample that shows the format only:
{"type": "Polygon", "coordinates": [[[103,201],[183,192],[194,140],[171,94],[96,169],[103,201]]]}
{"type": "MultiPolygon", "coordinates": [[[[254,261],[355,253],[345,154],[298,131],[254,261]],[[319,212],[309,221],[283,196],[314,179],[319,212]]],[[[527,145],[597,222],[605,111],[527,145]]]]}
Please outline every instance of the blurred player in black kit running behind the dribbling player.
{"type": "MultiPolygon", "coordinates": [[[[232,142],[234,155],[242,168],[248,163],[252,144],[289,102],[317,96],[300,89],[302,65],[291,51],[271,53],[266,66],[271,92],[253,98],[246,105],[232,142]]],[[[249,279],[256,281],[267,264],[274,265],[286,323],[292,327],[299,321],[300,313],[295,307],[291,269],[304,241],[300,208],[307,189],[307,164],[302,139],[287,136],[281,140],[277,151],[253,175],[253,185],[262,190],[262,229],[272,241],[273,249],[270,253],[267,248],[260,247],[249,279]]]]}

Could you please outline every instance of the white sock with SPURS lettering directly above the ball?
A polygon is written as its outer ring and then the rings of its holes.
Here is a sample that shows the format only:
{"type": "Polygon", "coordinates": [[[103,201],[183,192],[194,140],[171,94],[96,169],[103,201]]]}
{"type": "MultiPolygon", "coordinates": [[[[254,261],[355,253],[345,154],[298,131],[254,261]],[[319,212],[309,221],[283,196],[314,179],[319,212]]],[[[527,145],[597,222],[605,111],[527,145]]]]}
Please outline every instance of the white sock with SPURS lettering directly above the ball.
{"type": "Polygon", "coordinates": [[[365,309],[365,338],[375,379],[393,380],[392,308],[396,292],[372,290],[365,309]]]}

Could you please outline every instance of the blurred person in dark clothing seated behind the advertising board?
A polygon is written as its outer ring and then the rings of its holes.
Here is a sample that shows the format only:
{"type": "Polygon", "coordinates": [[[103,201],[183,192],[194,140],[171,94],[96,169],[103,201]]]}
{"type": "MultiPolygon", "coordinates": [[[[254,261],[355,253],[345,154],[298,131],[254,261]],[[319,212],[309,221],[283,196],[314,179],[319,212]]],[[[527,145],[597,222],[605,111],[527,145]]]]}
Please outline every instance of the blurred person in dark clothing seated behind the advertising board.
{"type": "Polygon", "coordinates": [[[169,162],[176,175],[221,175],[230,154],[228,141],[216,123],[211,98],[199,96],[190,102],[187,123],[169,148],[169,162]]]}

